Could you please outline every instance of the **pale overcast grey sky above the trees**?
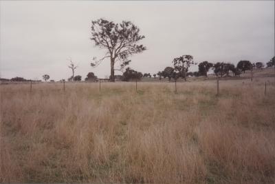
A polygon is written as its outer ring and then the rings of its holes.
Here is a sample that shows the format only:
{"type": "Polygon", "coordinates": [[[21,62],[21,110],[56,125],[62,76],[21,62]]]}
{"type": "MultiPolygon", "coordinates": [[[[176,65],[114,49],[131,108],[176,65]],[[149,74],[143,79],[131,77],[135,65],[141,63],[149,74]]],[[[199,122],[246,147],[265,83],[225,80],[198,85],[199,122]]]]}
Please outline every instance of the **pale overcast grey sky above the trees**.
{"type": "MultiPolygon", "coordinates": [[[[172,66],[175,57],[194,61],[266,63],[274,54],[274,1],[0,1],[0,77],[68,79],[110,75],[110,61],[91,38],[91,21],[132,21],[147,50],[129,67],[151,74],[172,66]]],[[[190,68],[197,70],[197,65],[190,68]]],[[[115,74],[122,74],[115,72],[115,74]]]]}

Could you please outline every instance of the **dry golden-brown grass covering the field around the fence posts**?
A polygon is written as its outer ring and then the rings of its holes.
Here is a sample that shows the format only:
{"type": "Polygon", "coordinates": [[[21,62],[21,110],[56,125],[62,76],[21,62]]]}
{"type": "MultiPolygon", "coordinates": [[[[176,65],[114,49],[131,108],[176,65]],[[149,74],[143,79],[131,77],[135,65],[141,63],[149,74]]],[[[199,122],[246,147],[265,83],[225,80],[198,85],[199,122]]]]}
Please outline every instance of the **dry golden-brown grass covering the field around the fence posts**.
{"type": "Polygon", "coordinates": [[[1,85],[0,182],[274,183],[274,83],[220,85],[1,85]]]}

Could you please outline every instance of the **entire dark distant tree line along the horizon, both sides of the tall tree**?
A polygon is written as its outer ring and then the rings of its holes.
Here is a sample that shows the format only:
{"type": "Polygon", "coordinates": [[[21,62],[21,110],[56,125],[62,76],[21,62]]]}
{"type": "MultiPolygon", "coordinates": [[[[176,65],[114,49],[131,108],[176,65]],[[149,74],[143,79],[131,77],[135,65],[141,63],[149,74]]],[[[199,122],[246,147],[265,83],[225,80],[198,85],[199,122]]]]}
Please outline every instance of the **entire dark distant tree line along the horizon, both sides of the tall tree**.
{"type": "MultiPolygon", "coordinates": [[[[181,57],[177,57],[173,59],[172,66],[167,66],[164,68],[164,70],[157,72],[156,74],[151,73],[144,73],[138,72],[136,70],[133,70],[132,68],[126,68],[122,75],[114,75],[114,79],[118,81],[140,81],[142,77],[151,78],[152,76],[154,79],[158,77],[159,80],[162,80],[162,78],[168,78],[168,81],[171,79],[178,79],[181,77],[182,79],[186,80],[186,76],[208,76],[209,70],[213,70],[214,74],[216,76],[229,76],[230,72],[233,76],[240,76],[241,73],[245,73],[247,70],[254,70],[254,69],[260,69],[262,70],[265,65],[263,62],[256,62],[251,63],[248,60],[241,60],[239,61],[236,66],[232,63],[225,63],[225,62],[217,62],[217,63],[210,63],[208,61],[202,61],[198,64],[198,70],[195,72],[188,72],[188,69],[190,68],[190,65],[197,65],[193,61],[193,57],[191,55],[183,55],[181,57]]],[[[74,63],[70,63],[69,68],[72,69],[72,72],[74,74],[76,70],[76,65],[74,63]]],[[[275,67],[275,57],[270,59],[266,63],[266,68],[272,68],[275,67]]],[[[50,76],[48,74],[44,74],[42,76],[44,81],[47,81],[50,79],[50,76]]],[[[81,81],[82,76],[76,75],[76,76],[70,76],[68,81],[81,81]]],[[[89,72],[87,74],[87,77],[85,78],[85,81],[97,81],[98,77],[94,74],[94,72],[89,72]]],[[[24,79],[23,77],[14,77],[12,79],[3,79],[0,78],[0,81],[34,81],[30,79],[24,79]]],[[[54,82],[54,80],[50,80],[51,82],[54,82]]],[[[61,79],[61,81],[65,81],[65,79],[61,79]]]]}

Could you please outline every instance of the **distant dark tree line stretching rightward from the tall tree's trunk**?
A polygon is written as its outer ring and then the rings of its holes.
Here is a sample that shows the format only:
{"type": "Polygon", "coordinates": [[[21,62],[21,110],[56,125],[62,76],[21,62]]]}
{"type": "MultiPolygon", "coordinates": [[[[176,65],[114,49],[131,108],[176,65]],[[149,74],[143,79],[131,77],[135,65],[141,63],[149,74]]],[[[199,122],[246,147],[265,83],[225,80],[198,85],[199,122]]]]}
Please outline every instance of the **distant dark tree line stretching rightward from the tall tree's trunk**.
{"type": "MultiPolygon", "coordinates": [[[[269,61],[267,67],[272,67],[274,64],[274,58],[269,61]]],[[[235,66],[232,63],[225,62],[217,62],[210,63],[208,61],[202,61],[197,64],[193,61],[193,57],[191,55],[182,55],[181,57],[177,57],[173,59],[172,65],[167,66],[164,70],[157,72],[156,74],[137,72],[131,68],[126,68],[122,75],[115,75],[115,79],[121,81],[135,81],[140,80],[142,78],[151,78],[152,75],[154,79],[156,77],[161,80],[162,78],[168,78],[168,81],[171,79],[184,79],[186,81],[187,76],[208,76],[209,70],[212,70],[216,76],[230,76],[230,72],[233,76],[240,76],[241,73],[245,73],[247,70],[254,69],[263,69],[264,64],[262,62],[251,63],[248,60],[241,60],[235,66]],[[191,65],[198,65],[198,70],[196,72],[189,72],[189,68],[191,65]]]]}

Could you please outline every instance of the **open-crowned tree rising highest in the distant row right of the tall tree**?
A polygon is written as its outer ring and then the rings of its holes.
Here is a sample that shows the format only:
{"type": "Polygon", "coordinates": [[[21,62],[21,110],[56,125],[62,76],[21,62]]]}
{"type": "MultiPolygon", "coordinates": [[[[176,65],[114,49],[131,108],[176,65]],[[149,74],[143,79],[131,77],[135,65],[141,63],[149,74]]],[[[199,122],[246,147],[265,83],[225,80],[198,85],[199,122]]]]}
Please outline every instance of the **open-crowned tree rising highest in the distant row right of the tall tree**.
{"type": "Polygon", "coordinates": [[[182,55],[181,57],[177,57],[173,60],[174,70],[177,76],[181,76],[186,81],[186,72],[188,72],[188,68],[192,64],[196,64],[193,61],[193,57],[191,55],[182,55]]]}

